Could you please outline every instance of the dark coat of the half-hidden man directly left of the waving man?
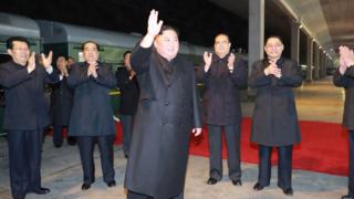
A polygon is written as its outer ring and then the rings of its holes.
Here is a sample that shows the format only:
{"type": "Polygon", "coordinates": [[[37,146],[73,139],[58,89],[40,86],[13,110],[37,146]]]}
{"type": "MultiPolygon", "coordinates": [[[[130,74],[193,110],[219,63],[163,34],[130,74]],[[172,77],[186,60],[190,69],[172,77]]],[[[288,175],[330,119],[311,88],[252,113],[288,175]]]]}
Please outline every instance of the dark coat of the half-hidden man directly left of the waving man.
{"type": "Polygon", "coordinates": [[[129,72],[126,67],[119,67],[115,72],[115,77],[121,91],[119,114],[135,115],[139,100],[139,86],[136,76],[129,80],[129,72]]]}

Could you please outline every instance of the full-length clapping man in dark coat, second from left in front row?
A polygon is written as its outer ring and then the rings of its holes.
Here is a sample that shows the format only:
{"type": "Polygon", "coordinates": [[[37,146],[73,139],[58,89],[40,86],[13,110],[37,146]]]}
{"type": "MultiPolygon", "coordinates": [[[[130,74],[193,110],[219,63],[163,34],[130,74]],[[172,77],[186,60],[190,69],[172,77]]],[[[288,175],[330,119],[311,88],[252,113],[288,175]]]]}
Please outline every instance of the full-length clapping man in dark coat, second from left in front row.
{"type": "Polygon", "coordinates": [[[98,44],[82,44],[85,62],[72,65],[67,85],[74,88],[74,102],[70,116],[69,135],[76,136],[84,172],[82,190],[95,181],[93,159],[94,144],[98,143],[103,179],[108,187],[115,186],[113,168],[113,140],[115,125],[110,91],[116,80],[112,66],[98,62],[98,44]]]}

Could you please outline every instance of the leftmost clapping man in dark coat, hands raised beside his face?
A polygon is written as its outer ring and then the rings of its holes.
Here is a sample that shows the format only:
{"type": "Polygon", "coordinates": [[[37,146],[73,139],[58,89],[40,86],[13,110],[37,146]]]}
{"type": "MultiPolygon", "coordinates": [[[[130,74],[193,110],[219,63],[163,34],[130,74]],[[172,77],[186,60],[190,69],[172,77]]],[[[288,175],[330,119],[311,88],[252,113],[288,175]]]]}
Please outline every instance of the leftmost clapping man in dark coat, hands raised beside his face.
{"type": "Polygon", "coordinates": [[[45,195],[41,186],[41,147],[43,128],[49,121],[49,102],[44,84],[55,83],[52,52],[43,65],[35,63],[25,38],[12,36],[7,42],[12,61],[0,65],[0,85],[4,88],[3,128],[8,132],[11,193],[23,199],[28,192],[45,195]]]}

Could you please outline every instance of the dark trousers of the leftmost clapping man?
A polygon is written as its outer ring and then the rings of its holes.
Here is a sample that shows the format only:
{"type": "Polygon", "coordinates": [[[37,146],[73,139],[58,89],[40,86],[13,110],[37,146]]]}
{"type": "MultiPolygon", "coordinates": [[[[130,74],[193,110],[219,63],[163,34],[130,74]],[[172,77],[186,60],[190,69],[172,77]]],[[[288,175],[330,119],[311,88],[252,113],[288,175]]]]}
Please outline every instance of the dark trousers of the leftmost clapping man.
{"type": "Polygon", "coordinates": [[[41,188],[43,130],[9,130],[9,169],[13,198],[41,188]]]}

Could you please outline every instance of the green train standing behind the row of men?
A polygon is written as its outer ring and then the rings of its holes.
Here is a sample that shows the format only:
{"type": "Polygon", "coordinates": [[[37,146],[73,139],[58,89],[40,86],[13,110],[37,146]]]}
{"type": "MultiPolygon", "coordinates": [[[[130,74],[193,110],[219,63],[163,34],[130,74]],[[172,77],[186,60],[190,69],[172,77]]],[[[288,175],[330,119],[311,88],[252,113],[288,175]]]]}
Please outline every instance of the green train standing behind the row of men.
{"type": "MultiPolygon", "coordinates": [[[[79,62],[83,61],[81,44],[87,40],[95,41],[101,46],[100,61],[112,64],[114,72],[123,65],[123,53],[133,49],[142,39],[139,34],[127,34],[55,21],[32,20],[27,17],[0,12],[0,63],[11,59],[7,53],[6,41],[12,35],[28,38],[31,50],[37,54],[53,51],[53,65],[55,65],[55,60],[59,55],[72,56],[79,62]]],[[[202,62],[202,53],[209,50],[185,42],[180,43],[180,54],[189,59],[195,66],[202,62]]],[[[202,91],[202,85],[200,91],[202,91]]],[[[46,94],[49,96],[50,93],[46,94]]],[[[119,91],[116,88],[110,94],[114,113],[117,114],[119,91]]],[[[4,106],[3,91],[0,90],[0,135],[2,134],[4,106]]]]}

